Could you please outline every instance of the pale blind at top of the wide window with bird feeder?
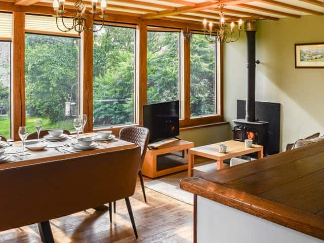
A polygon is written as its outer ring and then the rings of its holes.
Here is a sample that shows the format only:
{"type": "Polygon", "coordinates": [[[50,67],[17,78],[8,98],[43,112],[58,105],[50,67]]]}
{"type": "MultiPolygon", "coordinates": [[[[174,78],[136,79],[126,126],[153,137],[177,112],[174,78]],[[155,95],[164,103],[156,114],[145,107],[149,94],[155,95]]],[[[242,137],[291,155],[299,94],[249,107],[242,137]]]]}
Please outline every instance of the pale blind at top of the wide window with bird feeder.
{"type": "MultiPolygon", "coordinates": [[[[67,27],[71,27],[73,20],[64,18],[64,23],[67,27]]],[[[58,19],[58,24],[60,29],[65,29],[61,18],[58,19]]],[[[60,31],[56,26],[55,17],[41,15],[26,15],[25,32],[80,37],[75,30],[69,32],[60,31]]]]}

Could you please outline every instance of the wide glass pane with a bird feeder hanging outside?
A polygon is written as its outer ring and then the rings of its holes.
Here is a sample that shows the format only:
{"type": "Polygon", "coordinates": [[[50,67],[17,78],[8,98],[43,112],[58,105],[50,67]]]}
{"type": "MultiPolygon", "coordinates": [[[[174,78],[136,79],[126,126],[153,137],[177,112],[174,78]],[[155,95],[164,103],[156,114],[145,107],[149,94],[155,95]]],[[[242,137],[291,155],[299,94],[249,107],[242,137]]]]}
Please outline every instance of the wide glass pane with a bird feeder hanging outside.
{"type": "Polygon", "coordinates": [[[79,39],[41,34],[25,35],[26,125],[74,130],[79,110],[79,39]]]}

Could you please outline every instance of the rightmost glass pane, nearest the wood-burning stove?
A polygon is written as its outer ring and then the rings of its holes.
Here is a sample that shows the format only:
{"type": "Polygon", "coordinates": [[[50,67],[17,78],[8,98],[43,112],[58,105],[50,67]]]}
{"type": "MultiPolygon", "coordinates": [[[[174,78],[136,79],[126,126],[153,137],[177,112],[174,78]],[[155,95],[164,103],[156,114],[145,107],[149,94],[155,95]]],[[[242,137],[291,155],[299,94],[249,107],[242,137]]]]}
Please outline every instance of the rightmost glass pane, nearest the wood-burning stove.
{"type": "Polygon", "coordinates": [[[190,46],[191,117],[215,114],[215,44],[193,34],[190,46]]]}

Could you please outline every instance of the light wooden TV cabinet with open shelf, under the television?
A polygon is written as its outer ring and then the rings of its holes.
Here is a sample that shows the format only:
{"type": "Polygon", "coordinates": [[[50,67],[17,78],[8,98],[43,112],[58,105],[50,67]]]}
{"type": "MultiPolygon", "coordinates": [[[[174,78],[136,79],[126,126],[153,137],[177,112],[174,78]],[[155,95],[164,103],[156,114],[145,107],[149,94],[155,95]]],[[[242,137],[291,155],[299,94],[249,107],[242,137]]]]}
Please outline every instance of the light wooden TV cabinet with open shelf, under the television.
{"type": "Polygon", "coordinates": [[[175,172],[187,170],[188,164],[186,163],[185,165],[175,166],[157,171],[157,156],[177,151],[183,151],[183,157],[187,157],[187,150],[193,147],[194,143],[192,142],[176,140],[172,143],[160,146],[158,149],[147,149],[142,167],[142,174],[149,178],[156,178],[159,176],[165,176],[175,172]]]}

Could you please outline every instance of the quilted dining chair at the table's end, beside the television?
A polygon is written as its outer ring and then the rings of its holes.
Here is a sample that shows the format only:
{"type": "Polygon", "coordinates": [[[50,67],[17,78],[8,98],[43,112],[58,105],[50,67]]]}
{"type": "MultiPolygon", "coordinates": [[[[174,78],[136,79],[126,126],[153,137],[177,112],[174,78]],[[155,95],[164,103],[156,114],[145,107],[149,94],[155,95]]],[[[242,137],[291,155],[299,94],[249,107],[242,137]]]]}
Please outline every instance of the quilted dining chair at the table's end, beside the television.
{"type": "MultiPolygon", "coordinates": [[[[135,143],[137,146],[141,147],[141,163],[138,168],[138,175],[141,181],[141,187],[143,191],[144,201],[146,203],[146,195],[145,195],[145,188],[142,176],[142,166],[147,150],[148,140],[149,140],[149,130],[143,127],[125,127],[120,130],[119,132],[119,139],[125,140],[131,143],[135,143]]],[[[111,212],[111,209],[109,209],[111,212]]],[[[116,202],[113,202],[113,210],[116,213],[116,202]]]]}

